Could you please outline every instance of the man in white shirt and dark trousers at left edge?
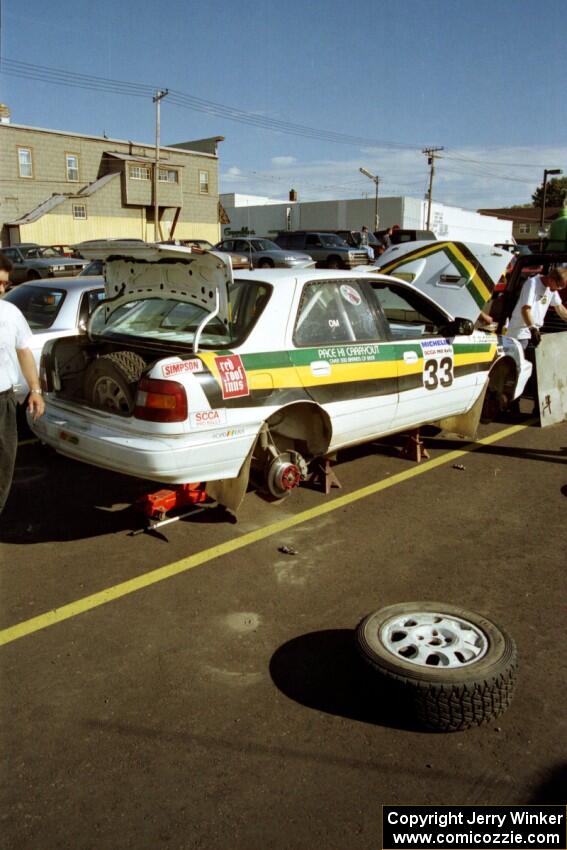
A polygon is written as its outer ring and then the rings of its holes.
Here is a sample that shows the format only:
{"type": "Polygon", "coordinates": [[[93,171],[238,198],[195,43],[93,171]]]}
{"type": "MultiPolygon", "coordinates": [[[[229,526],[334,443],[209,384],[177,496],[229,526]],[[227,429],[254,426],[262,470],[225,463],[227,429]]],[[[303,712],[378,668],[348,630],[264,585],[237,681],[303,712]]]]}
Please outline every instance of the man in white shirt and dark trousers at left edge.
{"type": "Polygon", "coordinates": [[[10,492],[18,446],[13,390],[18,377],[18,362],[30,391],[30,414],[37,419],[45,410],[35,360],[29,348],[32,332],[18,308],[1,298],[11,269],[10,260],[0,254],[0,513],[10,492]]]}

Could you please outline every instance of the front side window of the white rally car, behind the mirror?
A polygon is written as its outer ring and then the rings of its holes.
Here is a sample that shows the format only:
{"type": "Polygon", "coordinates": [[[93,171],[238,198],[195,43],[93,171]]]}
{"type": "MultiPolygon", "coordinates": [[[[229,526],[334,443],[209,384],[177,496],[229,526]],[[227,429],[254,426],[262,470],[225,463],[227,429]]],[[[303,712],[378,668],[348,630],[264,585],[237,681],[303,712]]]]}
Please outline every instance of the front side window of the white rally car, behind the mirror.
{"type": "Polygon", "coordinates": [[[392,339],[415,339],[441,333],[440,328],[447,319],[419,293],[379,283],[372,288],[390,326],[392,339]]]}

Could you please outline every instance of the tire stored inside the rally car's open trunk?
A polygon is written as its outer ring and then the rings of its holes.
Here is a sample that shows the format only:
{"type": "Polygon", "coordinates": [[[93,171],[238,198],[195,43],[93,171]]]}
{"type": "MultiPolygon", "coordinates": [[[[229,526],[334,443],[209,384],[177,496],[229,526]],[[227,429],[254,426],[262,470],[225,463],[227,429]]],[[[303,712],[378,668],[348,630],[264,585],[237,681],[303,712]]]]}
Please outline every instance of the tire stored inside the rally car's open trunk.
{"type": "Polygon", "coordinates": [[[134,410],[136,385],[146,363],[133,351],[113,351],[89,364],[85,397],[94,407],[129,415],[134,410]]]}

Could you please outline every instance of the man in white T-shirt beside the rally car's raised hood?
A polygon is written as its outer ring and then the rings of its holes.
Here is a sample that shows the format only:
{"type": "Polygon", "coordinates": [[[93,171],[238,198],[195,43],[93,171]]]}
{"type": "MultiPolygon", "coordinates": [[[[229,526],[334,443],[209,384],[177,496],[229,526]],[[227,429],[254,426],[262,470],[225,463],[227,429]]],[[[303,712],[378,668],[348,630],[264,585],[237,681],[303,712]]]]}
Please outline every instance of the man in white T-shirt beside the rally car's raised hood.
{"type": "Polygon", "coordinates": [[[567,286],[567,269],[555,268],[526,280],[510,317],[508,336],[519,340],[524,348],[536,348],[541,340],[540,328],[550,307],[567,322],[567,307],[559,291],[567,286]]]}

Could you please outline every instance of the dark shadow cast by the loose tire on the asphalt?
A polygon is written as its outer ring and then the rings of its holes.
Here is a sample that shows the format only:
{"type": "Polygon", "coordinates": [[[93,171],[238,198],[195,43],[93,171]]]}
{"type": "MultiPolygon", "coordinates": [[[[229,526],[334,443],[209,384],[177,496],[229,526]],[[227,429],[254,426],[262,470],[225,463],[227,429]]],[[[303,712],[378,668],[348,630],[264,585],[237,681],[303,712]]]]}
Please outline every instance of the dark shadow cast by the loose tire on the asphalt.
{"type": "Polygon", "coordinates": [[[311,632],[290,640],[273,654],[270,675],[286,697],[308,708],[375,726],[419,731],[359,658],[352,629],[311,632]]]}

